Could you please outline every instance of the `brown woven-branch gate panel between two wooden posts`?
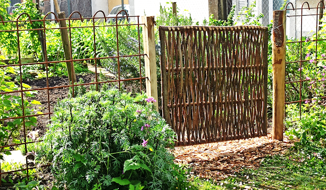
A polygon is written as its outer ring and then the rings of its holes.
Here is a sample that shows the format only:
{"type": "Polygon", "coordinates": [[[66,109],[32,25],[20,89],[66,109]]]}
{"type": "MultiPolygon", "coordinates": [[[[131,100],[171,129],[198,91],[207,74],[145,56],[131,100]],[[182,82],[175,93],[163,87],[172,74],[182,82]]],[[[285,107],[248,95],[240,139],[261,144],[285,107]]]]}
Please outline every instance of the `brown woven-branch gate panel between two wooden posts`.
{"type": "Polygon", "coordinates": [[[267,135],[267,27],[159,27],[177,146],[267,135]]]}

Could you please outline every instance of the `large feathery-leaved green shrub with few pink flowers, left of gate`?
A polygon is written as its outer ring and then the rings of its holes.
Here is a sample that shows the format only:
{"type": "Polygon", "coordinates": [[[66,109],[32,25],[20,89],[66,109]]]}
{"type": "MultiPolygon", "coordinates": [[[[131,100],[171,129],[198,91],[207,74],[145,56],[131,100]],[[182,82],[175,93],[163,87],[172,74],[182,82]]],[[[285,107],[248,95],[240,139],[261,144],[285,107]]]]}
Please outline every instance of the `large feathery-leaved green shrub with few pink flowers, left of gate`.
{"type": "Polygon", "coordinates": [[[151,101],[111,89],[59,102],[44,138],[59,186],[175,188],[178,167],[165,148],[175,135],[151,101]]]}

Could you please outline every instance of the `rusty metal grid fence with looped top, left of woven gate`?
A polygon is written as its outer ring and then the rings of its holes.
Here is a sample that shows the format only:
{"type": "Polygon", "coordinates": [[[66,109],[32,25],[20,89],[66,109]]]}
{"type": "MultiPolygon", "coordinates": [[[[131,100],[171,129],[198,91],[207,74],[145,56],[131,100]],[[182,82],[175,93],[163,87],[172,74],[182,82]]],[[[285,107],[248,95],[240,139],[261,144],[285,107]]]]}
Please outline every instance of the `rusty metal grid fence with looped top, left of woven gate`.
{"type": "MultiPolygon", "coordinates": [[[[120,11],[121,12],[121,11],[120,11]]],[[[15,32],[17,34],[17,41],[18,41],[18,64],[9,64],[9,65],[0,65],[0,69],[2,68],[7,68],[7,67],[19,67],[19,74],[18,74],[18,77],[20,78],[20,82],[19,85],[20,85],[20,90],[15,90],[15,91],[11,91],[11,92],[4,92],[4,91],[1,91],[0,92],[0,95],[3,95],[3,94],[20,94],[21,96],[21,99],[22,99],[22,111],[23,111],[23,114],[22,116],[18,116],[18,117],[10,117],[10,118],[1,118],[0,117],[0,121],[5,121],[5,120],[13,120],[13,119],[17,119],[17,118],[22,118],[23,120],[23,126],[22,126],[22,131],[23,131],[23,142],[22,143],[19,143],[19,144],[8,144],[8,145],[5,145],[5,146],[0,146],[0,149],[1,148],[5,148],[5,147],[15,147],[15,146],[19,146],[19,145],[24,145],[25,146],[25,151],[27,152],[27,144],[30,144],[30,143],[37,143],[37,142],[40,142],[40,141],[32,141],[32,142],[27,142],[26,141],[26,132],[27,132],[27,129],[25,128],[25,119],[28,118],[28,117],[32,117],[32,116],[41,116],[41,115],[49,115],[49,120],[51,118],[51,114],[53,114],[52,112],[52,109],[53,109],[53,106],[50,105],[50,97],[51,97],[51,93],[50,91],[53,90],[53,89],[56,89],[56,88],[67,88],[67,87],[72,87],[72,91],[74,91],[74,87],[76,86],[80,86],[80,85],[83,85],[83,86],[89,86],[89,85],[96,85],[96,88],[98,89],[98,85],[100,84],[104,84],[104,83],[118,83],[119,84],[119,88],[120,88],[120,83],[121,82],[124,82],[124,81],[139,81],[140,85],[139,85],[139,89],[140,91],[142,91],[142,81],[144,81],[145,79],[147,79],[147,77],[144,77],[142,76],[142,66],[144,65],[142,62],[141,62],[141,57],[144,56],[145,54],[142,53],[143,50],[141,50],[141,34],[140,34],[140,31],[141,31],[141,28],[142,26],[144,26],[144,24],[139,24],[139,16],[128,16],[127,13],[125,12],[125,16],[121,16],[121,17],[118,17],[118,15],[120,14],[120,12],[117,14],[117,16],[114,18],[115,19],[115,22],[112,24],[106,24],[106,25],[98,25],[97,24],[97,20],[98,19],[103,19],[104,21],[107,20],[108,17],[105,16],[104,12],[103,11],[98,11],[96,14],[94,14],[94,16],[92,16],[91,18],[81,18],[81,14],[79,12],[73,12],[67,19],[58,19],[58,17],[56,16],[55,13],[53,12],[49,12],[47,13],[43,19],[41,20],[31,20],[30,19],[30,16],[26,13],[22,13],[21,15],[18,16],[18,18],[16,20],[10,20],[10,21],[6,21],[4,20],[1,16],[0,16],[0,24],[2,25],[6,25],[6,24],[11,24],[11,23],[14,23],[14,25],[16,26],[16,28],[13,28],[13,29],[10,29],[10,30],[0,30],[0,33],[2,32],[15,32]],[[49,15],[53,14],[55,19],[46,19],[48,18],[49,15]],[[77,18],[75,18],[75,16],[73,16],[73,14],[77,15],[77,18]],[[97,16],[98,14],[102,14],[103,17],[99,17],[97,16]],[[23,15],[26,15],[28,17],[28,20],[20,20],[21,16],[23,15]],[[80,16],[80,18],[79,18],[80,16]],[[118,20],[119,18],[134,18],[135,20],[135,23],[127,23],[127,24],[120,24],[118,23],[118,20]],[[71,26],[71,23],[74,22],[74,21],[83,21],[84,20],[87,20],[87,21],[92,21],[92,25],[91,26],[77,26],[77,27],[73,27],[71,26]],[[60,20],[65,20],[68,22],[68,27],[56,27],[56,28],[46,28],[46,23],[47,22],[50,22],[50,21],[60,21],[60,20]],[[34,29],[28,29],[28,28],[22,28],[23,25],[25,24],[32,24],[32,23],[39,23],[41,22],[42,23],[42,28],[34,28],[34,29]],[[138,33],[138,36],[137,36],[137,39],[135,39],[135,43],[136,43],[136,46],[138,48],[138,52],[136,54],[130,54],[130,55],[121,55],[119,54],[119,39],[118,39],[118,28],[120,26],[131,26],[131,25],[135,25],[137,26],[137,33],[138,33]],[[97,41],[99,41],[97,38],[96,38],[96,28],[99,28],[99,27],[114,27],[115,30],[116,30],[116,35],[117,35],[117,44],[116,44],[116,49],[117,49],[117,55],[115,56],[106,56],[106,57],[99,57],[97,56],[97,41]],[[92,32],[93,32],[93,41],[94,41],[94,57],[92,58],[72,58],[71,60],[53,60],[53,61],[49,61],[48,60],[48,54],[47,54],[47,49],[46,49],[46,31],[49,31],[49,30],[59,30],[59,29],[63,29],[63,28],[67,28],[69,30],[69,40],[70,40],[70,44],[73,44],[75,42],[72,41],[72,38],[71,38],[71,33],[73,33],[73,30],[72,29],[76,29],[76,28],[92,28],[92,32]],[[44,33],[44,44],[45,44],[45,60],[43,60],[42,62],[32,62],[32,63],[23,63],[22,61],[22,58],[21,57],[21,47],[20,47],[20,33],[22,32],[30,32],[30,31],[43,31],[44,33]],[[120,77],[120,65],[119,65],[119,60],[121,58],[125,58],[125,57],[139,57],[139,77],[137,78],[121,78],[120,77]],[[98,75],[100,74],[99,73],[99,69],[98,69],[98,66],[97,66],[97,60],[100,60],[100,59],[108,59],[108,58],[117,58],[118,60],[118,76],[117,76],[117,79],[115,80],[107,80],[107,81],[100,81],[98,78],[98,75]],[[49,66],[50,64],[56,64],[56,63],[59,63],[59,62],[69,62],[71,64],[73,64],[73,62],[75,61],[94,61],[95,62],[95,70],[96,70],[96,75],[95,75],[95,82],[90,82],[90,83],[84,83],[84,84],[74,84],[74,82],[77,82],[77,81],[72,81],[72,84],[70,85],[59,85],[59,86],[50,86],[49,85],[49,82],[51,80],[51,78],[49,77],[49,66]],[[46,71],[46,87],[43,87],[43,88],[32,88],[32,89],[25,89],[23,88],[23,80],[22,80],[22,75],[23,75],[23,72],[22,72],[22,66],[31,66],[31,65],[45,65],[45,71],[46,71]],[[24,93],[25,92],[28,92],[28,91],[42,91],[42,90],[45,90],[46,91],[46,96],[47,96],[47,99],[48,99],[48,102],[46,103],[46,105],[44,105],[46,108],[44,109],[44,113],[41,113],[41,114],[31,114],[31,115],[26,115],[25,112],[24,112],[24,98],[26,98],[26,96],[24,96],[24,93]]],[[[81,36],[83,37],[83,36],[81,36]]],[[[72,54],[72,49],[70,49],[70,53],[72,54]]],[[[71,56],[72,57],[72,56],[71,56]]],[[[121,88],[120,88],[121,89],[121,88]]],[[[68,90],[68,89],[67,89],[68,90]]],[[[143,89],[144,90],[144,89],[143,89]]],[[[72,93],[73,94],[73,93],[72,93]]],[[[13,171],[7,171],[7,172],[3,172],[3,171],[0,171],[0,176],[2,174],[8,174],[8,173],[13,173],[13,172],[18,172],[18,171],[24,171],[24,170],[27,170],[27,176],[28,176],[28,171],[30,169],[34,169],[36,168],[36,166],[29,166],[28,164],[28,159],[26,157],[26,165],[25,165],[25,168],[23,169],[18,169],[18,170],[13,170],[13,171]]],[[[43,165],[43,166],[49,166],[49,165],[43,165]]],[[[42,166],[41,166],[42,167],[42,166]]],[[[0,169],[1,169],[1,165],[0,165],[0,169]]],[[[1,178],[1,177],[0,177],[1,178]]],[[[0,183],[1,185],[1,183],[0,183]]]]}

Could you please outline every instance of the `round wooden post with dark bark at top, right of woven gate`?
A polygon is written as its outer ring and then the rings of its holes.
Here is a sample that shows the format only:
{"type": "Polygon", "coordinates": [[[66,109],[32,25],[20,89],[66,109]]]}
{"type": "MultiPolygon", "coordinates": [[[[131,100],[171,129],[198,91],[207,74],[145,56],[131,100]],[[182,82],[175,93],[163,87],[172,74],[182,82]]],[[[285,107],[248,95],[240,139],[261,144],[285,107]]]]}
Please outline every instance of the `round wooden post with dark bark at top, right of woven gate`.
{"type": "Polygon", "coordinates": [[[273,11],[272,74],[273,119],[272,139],[283,141],[286,58],[286,11],[273,11]]]}

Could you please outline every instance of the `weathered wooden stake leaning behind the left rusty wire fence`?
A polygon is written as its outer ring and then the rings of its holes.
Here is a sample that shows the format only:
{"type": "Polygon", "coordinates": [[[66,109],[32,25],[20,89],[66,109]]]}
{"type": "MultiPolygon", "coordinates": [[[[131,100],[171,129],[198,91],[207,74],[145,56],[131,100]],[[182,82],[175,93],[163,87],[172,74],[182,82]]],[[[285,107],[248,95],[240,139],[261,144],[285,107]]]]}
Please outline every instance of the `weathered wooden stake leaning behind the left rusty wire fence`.
{"type": "MultiPolygon", "coordinates": [[[[58,18],[65,19],[66,18],[65,12],[58,12],[58,18]]],[[[71,47],[70,47],[68,30],[66,28],[67,27],[66,20],[60,20],[59,24],[60,24],[60,28],[62,28],[60,29],[60,31],[61,31],[61,39],[62,39],[63,50],[65,53],[65,58],[66,60],[71,60],[72,59],[71,52],[70,52],[71,47]]],[[[73,84],[77,82],[75,68],[72,61],[67,61],[67,70],[68,70],[69,83],[73,84]]]]}

